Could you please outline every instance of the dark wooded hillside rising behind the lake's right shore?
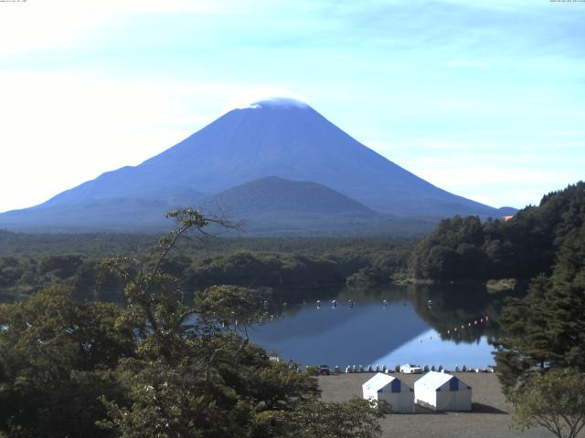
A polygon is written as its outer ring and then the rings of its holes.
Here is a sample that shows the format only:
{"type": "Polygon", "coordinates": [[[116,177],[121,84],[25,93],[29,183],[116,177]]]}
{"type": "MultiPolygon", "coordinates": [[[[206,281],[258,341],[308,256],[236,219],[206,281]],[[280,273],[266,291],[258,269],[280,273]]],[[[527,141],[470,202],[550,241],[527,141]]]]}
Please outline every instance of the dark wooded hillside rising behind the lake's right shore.
{"type": "Polygon", "coordinates": [[[410,276],[434,280],[532,278],[550,274],[558,249],[585,218],[585,183],[548,193],[512,219],[455,216],[414,249],[410,276]]]}

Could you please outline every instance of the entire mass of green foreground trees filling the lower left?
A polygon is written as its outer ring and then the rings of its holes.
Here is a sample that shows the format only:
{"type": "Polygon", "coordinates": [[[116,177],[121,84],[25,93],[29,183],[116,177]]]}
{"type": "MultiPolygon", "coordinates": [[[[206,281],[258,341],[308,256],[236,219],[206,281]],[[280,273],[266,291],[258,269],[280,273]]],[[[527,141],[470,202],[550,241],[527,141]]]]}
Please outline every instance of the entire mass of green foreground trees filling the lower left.
{"type": "Polygon", "coordinates": [[[177,228],[151,256],[102,265],[125,308],[76,302],[64,287],[0,305],[0,436],[376,436],[381,407],[320,401],[314,377],[242,336],[263,292],[210,287],[187,304],[165,262],[211,221],[170,216],[177,228]]]}

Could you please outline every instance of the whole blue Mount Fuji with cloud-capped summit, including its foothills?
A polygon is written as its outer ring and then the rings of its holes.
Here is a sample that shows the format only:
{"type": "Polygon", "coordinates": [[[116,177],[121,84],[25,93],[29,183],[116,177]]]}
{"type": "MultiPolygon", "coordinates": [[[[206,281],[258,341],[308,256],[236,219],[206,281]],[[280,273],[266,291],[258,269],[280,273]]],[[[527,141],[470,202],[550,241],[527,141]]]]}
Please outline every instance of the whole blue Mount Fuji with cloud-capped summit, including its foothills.
{"type": "Polygon", "coordinates": [[[179,205],[213,205],[247,215],[250,224],[268,217],[285,224],[291,214],[308,223],[327,216],[330,224],[335,214],[356,215],[359,227],[367,227],[365,218],[379,227],[383,217],[393,224],[413,218],[434,223],[455,214],[499,217],[514,211],[441,190],[368,149],[308,104],[273,98],[231,110],[137,166],[0,214],[0,227],[136,230],[165,224],[165,211],[179,205]]]}

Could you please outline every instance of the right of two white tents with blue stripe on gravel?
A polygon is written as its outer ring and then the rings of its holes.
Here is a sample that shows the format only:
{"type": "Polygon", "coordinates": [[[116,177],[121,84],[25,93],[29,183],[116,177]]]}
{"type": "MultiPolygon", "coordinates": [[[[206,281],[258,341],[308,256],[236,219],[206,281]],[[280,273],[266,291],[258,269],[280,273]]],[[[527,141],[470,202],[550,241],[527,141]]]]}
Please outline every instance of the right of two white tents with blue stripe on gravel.
{"type": "Polygon", "coordinates": [[[415,381],[414,399],[433,411],[472,410],[472,388],[442,372],[431,371],[415,381]]]}

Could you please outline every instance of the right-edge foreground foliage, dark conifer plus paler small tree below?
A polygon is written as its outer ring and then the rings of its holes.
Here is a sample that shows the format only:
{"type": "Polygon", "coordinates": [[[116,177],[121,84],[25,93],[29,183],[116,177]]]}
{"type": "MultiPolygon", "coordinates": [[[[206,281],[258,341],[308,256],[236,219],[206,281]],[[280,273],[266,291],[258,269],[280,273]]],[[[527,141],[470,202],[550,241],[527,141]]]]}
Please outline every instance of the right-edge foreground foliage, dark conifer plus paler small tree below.
{"type": "MultiPolygon", "coordinates": [[[[570,217],[568,214],[567,217],[570,217]]],[[[495,341],[498,378],[516,427],[575,438],[585,425],[585,224],[565,230],[550,276],[508,299],[495,341]]],[[[577,224],[577,221],[575,224],[577,224]]]]}

